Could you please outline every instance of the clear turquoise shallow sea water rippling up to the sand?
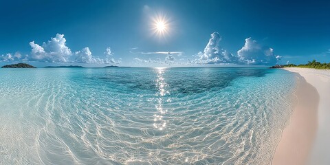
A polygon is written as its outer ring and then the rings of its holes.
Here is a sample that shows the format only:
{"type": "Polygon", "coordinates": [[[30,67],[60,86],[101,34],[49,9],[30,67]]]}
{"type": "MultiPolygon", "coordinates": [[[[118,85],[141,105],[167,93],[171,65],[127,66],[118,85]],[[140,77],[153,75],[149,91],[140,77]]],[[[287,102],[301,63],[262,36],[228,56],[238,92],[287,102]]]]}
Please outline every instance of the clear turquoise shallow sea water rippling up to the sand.
{"type": "Polygon", "coordinates": [[[270,164],[294,74],[0,69],[1,164],[270,164]]]}

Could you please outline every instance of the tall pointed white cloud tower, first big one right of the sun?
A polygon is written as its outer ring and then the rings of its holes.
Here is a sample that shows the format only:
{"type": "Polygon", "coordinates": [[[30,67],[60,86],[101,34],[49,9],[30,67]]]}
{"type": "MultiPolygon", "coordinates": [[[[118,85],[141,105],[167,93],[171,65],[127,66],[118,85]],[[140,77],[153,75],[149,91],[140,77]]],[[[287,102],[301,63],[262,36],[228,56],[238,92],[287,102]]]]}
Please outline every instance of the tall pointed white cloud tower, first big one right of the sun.
{"type": "Polygon", "coordinates": [[[197,54],[199,56],[198,63],[236,63],[236,57],[230,52],[223,50],[219,45],[220,41],[221,36],[219,33],[213,32],[204,51],[197,54]]]}

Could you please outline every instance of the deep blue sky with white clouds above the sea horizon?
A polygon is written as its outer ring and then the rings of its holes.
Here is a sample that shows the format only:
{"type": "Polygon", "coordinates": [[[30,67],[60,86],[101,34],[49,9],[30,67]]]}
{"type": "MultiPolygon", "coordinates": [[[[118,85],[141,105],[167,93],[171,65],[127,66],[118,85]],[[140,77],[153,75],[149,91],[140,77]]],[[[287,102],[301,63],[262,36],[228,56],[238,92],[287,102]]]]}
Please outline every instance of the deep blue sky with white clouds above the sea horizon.
{"type": "Polygon", "coordinates": [[[329,63],[329,8],[327,1],[1,1],[0,64],[329,63]],[[157,34],[157,22],[167,32],[157,34]]]}

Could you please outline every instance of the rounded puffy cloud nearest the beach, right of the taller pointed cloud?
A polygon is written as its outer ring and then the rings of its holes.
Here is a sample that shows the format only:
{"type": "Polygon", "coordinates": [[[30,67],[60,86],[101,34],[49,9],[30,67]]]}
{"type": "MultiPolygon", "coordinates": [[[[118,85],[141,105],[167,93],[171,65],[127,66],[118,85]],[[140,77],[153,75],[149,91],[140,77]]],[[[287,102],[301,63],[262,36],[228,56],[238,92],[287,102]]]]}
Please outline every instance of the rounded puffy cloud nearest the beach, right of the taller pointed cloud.
{"type": "Polygon", "coordinates": [[[245,39],[245,44],[241,50],[237,51],[239,60],[247,64],[275,64],[281,56],[276,56],[271,47],[265,47],[252,40],[251,37],[245,39]]]}

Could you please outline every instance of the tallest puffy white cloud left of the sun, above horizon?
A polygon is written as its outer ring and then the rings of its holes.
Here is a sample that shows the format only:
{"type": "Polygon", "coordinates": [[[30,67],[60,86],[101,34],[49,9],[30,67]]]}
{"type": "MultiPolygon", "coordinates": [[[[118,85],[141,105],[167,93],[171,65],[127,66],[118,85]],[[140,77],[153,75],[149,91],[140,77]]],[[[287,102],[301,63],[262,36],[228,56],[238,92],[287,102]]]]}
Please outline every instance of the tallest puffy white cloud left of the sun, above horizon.
{"type": "Polygon", "coordinates": [[[30,42],[32,47],[31,60],[50,63],[67,63],[71,50],[65,45],[66,39],[63,34],[56,34],[54,38],[43,45],[38,45],[34,41],[30,42]]]}

